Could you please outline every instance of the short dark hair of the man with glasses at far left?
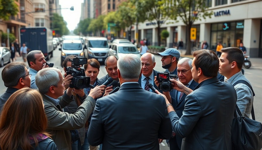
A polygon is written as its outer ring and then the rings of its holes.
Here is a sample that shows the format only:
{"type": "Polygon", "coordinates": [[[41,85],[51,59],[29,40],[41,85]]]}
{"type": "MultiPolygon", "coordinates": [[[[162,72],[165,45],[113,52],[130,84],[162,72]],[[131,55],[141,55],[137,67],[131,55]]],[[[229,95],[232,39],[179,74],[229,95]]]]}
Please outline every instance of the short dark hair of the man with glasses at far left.
{"type": "Polygon", "coordinates": [[[24,62],[12,62],[7,64],[2,71],[2,79],[6,87],[16,86],[20,78],[25,76],[25,67],[24,62]]]}

